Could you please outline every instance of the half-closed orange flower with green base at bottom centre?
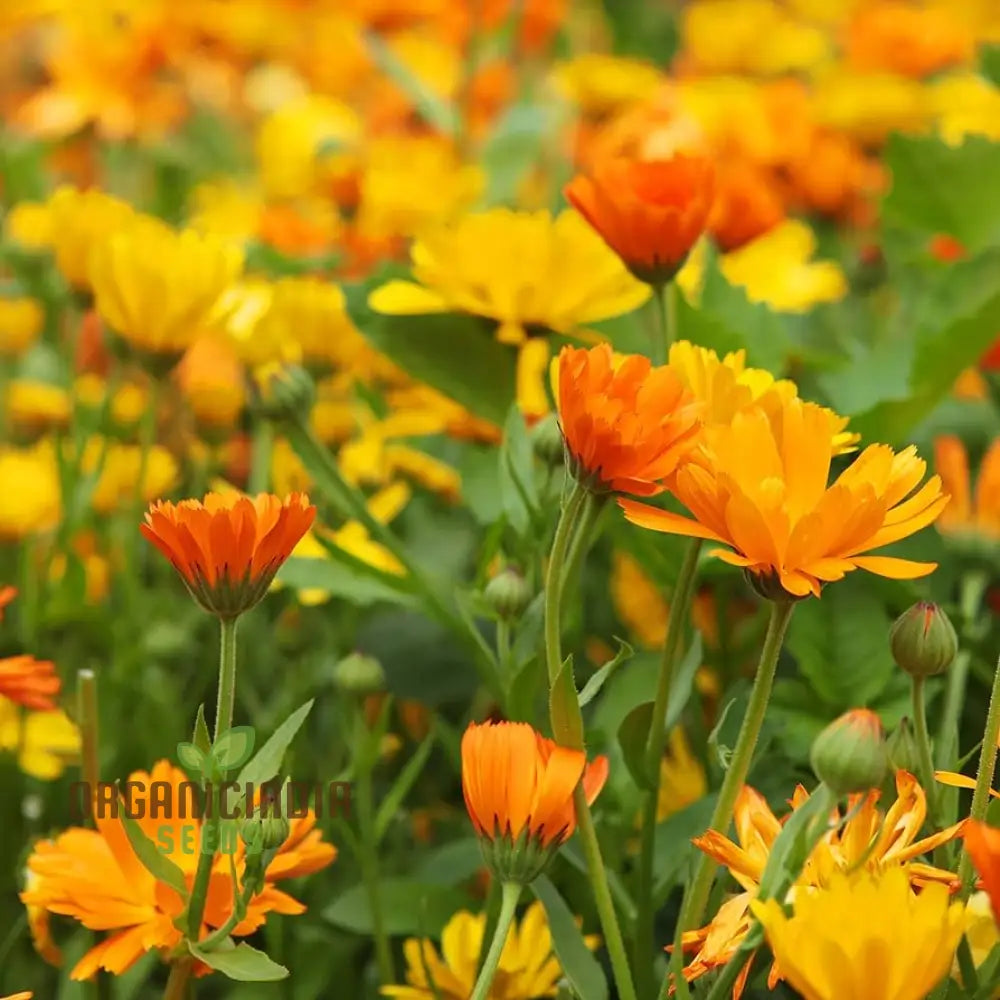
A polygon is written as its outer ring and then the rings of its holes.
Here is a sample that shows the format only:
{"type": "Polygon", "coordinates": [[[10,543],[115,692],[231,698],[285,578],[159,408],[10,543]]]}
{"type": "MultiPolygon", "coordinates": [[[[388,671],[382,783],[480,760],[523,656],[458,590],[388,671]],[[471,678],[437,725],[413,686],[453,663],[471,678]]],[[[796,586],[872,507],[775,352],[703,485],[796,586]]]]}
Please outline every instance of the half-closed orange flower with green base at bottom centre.
{"type": "Polygon", "coordinates": [[[593,802],[608,759],[587,763],[524,722],[471,723],[462,737],[462,792],[497,878],[531,882],[576,829],[573,790],[593,802]]]}

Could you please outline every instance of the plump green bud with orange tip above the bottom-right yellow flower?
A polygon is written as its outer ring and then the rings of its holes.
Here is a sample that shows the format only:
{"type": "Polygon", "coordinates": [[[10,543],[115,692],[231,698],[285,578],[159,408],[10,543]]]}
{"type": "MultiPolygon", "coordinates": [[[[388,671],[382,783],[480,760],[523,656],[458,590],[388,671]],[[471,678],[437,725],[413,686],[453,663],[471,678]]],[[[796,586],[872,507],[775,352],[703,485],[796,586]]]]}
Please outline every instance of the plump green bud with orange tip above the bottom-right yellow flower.
{"type": "Polygon", "coordinates": [[[813,741],[809,762],[836,795],[878,788],[889,768],[879,717],[867,708],[855,708],[834,719],[813,741]]]}

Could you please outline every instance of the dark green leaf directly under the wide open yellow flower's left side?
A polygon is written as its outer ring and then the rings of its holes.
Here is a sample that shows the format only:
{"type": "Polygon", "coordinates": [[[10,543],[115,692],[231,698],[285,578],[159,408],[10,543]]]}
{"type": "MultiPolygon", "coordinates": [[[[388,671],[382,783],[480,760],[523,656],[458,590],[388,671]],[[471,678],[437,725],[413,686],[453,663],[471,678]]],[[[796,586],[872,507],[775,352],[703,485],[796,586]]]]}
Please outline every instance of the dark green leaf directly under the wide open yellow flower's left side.
{"type": "Polygon", "coordinates": [[[418,381],[501,427],[515,396],[517,353],[497,341],[495,324],[459,313],[383,316],[368,307],[368,290],[344,289],[365,338],[418,381]]]}

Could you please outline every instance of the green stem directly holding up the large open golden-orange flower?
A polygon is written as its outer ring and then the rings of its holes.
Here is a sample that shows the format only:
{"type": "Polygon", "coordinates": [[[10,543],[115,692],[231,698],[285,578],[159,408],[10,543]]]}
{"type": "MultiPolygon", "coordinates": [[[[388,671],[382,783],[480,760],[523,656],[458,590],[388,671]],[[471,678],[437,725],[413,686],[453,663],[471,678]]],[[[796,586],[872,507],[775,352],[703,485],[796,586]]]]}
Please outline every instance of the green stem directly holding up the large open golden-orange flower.
{"type": "MultiPolygon", "coordinates": [[[[781,653],[785,630],[788,628],[794,607],[795,603],[791,600],[774,601],[771,604],[771,618],[767,624],[764,646],[760,651],[760,662],[757,664],[757,675],[750,691],[750,701],[747,703],[743,725],[740,727],[740,734],[736,739],[736,747],[733,750],[729,768],[725,778],[723,778],[722,787],[719,789],[715,811],[712,813],[710,828],[720,833],[725,833],[729,828],[733,818],[733,808],[736,805],[736,797],[739,795],[750,770],[750,762],[757,746],[757,737],[760,735],[760,727],[764,722],[764,713],[767,711],[767,703],[771,696],[771,686],[774,683],[774,674],[778,667],[778,656],[781,653]]],[[[705,912],[705,904],[708,902],[709,892],[712,889],[715,869],[715,862],[707,854],[703,854],[694,879],[684,894],[684,903],[677,921],[677,942],[684,931],[696,927],[701,920],[705,912]]],[[[679,951],[679,947],[677,951],[679,951]]]]}

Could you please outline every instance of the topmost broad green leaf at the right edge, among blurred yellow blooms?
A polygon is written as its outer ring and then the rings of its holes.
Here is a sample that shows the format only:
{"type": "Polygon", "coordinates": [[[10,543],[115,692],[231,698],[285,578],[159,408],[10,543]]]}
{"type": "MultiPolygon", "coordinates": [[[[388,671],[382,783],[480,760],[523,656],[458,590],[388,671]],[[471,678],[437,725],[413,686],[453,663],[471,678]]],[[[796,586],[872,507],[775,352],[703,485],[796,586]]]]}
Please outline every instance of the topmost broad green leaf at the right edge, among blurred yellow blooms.
{"type": "Polygon", "coordinates": [[[954,236],[970,254],[1000,244],[1000,144],[967,136],[949,146],[931,136],[890,137],[892,189],[883,218],[926,237],[954,236]]]}

